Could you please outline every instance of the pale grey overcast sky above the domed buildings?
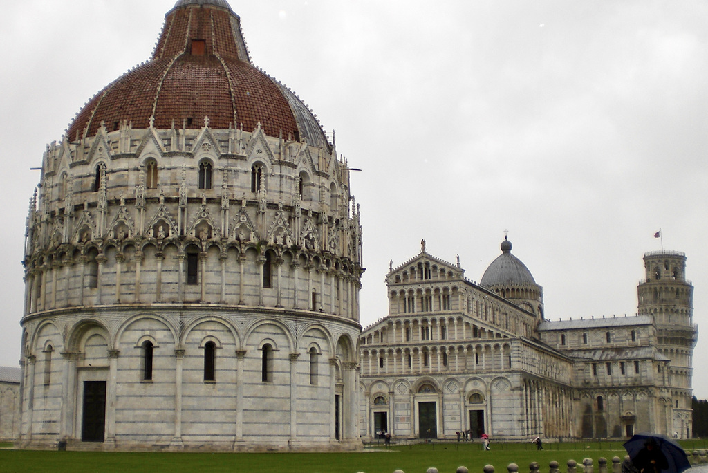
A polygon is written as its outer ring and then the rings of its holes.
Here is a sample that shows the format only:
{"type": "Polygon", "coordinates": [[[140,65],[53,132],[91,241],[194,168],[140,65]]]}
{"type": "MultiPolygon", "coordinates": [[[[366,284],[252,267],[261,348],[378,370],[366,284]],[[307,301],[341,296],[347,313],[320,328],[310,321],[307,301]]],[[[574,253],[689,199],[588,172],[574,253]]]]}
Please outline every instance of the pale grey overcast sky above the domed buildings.
{"type": "MultiPolygon", "coordinates": [[[[17,365],[28,200],[47,143],[149,59],[176,0],[0,0],[0,365],[17,365]]],[[[548,319],[636,313],[684,251],[708,330],[708,2],[231,0],[253,62],[336,130],[361,204],[361,321],[420,251],[478,281],[513,253],[548,319]]],[[[708,345],[695,394],[708,398],[708,345]]]]}

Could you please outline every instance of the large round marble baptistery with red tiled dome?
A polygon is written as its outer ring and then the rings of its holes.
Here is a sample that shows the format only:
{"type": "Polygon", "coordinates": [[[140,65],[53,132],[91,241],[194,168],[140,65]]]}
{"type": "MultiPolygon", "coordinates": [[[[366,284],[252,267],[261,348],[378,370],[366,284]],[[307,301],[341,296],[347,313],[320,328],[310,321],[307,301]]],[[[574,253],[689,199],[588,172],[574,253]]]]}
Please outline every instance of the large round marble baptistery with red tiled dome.
{"type": "Polygon", "coordinates": [[[348,164],[226,1],[178,1],[37,187],[18,445],[360,448],[348,164]]]}

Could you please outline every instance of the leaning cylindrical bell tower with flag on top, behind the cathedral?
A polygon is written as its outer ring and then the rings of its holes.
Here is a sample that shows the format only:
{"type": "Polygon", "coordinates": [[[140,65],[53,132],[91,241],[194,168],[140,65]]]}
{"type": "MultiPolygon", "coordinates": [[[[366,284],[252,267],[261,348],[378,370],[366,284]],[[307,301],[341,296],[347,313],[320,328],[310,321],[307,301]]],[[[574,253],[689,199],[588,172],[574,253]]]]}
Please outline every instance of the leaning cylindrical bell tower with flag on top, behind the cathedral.
{"type": "Polygon", "coordinates": [[[693,324],[693,285],[686,280],[686,256],[678,251],[644,253],[646,279],[639,283],[639,314],[656,324],[656,347],[670,361],[668,425],[680,438],[692,435],[691,375],[698,329],[693,324]]]}

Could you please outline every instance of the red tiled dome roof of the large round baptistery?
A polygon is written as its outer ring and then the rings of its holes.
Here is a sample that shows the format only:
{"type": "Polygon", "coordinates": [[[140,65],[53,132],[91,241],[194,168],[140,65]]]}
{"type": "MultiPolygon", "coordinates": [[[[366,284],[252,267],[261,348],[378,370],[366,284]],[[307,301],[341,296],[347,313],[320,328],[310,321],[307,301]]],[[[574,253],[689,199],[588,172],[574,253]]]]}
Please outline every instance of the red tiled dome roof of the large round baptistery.
{"type": "Polygon", "coordinates": [[[135,128],[229,125],[270,136],[307,139],[327,147],[319,123],[302,101],[251,64],[240,18],[223,1],[180,0],[166,15],[154,55],[109,84],[79,112],[68,137],[109,131],[123,120],[135,128]]]}

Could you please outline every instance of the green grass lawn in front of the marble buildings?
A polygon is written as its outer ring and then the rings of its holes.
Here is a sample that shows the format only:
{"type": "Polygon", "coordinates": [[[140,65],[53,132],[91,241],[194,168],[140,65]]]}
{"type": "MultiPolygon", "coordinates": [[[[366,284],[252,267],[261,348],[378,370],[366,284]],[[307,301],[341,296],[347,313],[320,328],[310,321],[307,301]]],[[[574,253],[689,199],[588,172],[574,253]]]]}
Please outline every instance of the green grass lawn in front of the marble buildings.
{"type": "MultiPolygon", "coordinates": [[[[705,448],[702,440],[682,442],[684,448],[705,448]]],[[[383,447],[383,446],[381,446],[383,447]]],[[[122,453],[122,452],[47,452],[0,450],[0,472],[98,473],[98,472],[258,472],[258,473],[406,473],[425,472],[437,467],[440,473],[455,472],[460,465],[481,473],[484,465],[493,465],[496,473],[506,473],[507,465],[516,463],[520,473],[528,472],[530,462],[539,462],[541,471],[556,460],[566,472],[569,459],[581,464],[592,458],[624,457],[619,442],[546,443],[535,450],[525,443],[492,443],[484,452],[479,443],[435,443],[392,445],[388,449],[367,448],[360,453],[122,453]]],[[[597,471],[597,469],[595,469],[597,471]]],[[[611,471],[611,469],[610,469],[611,471]]]]}

